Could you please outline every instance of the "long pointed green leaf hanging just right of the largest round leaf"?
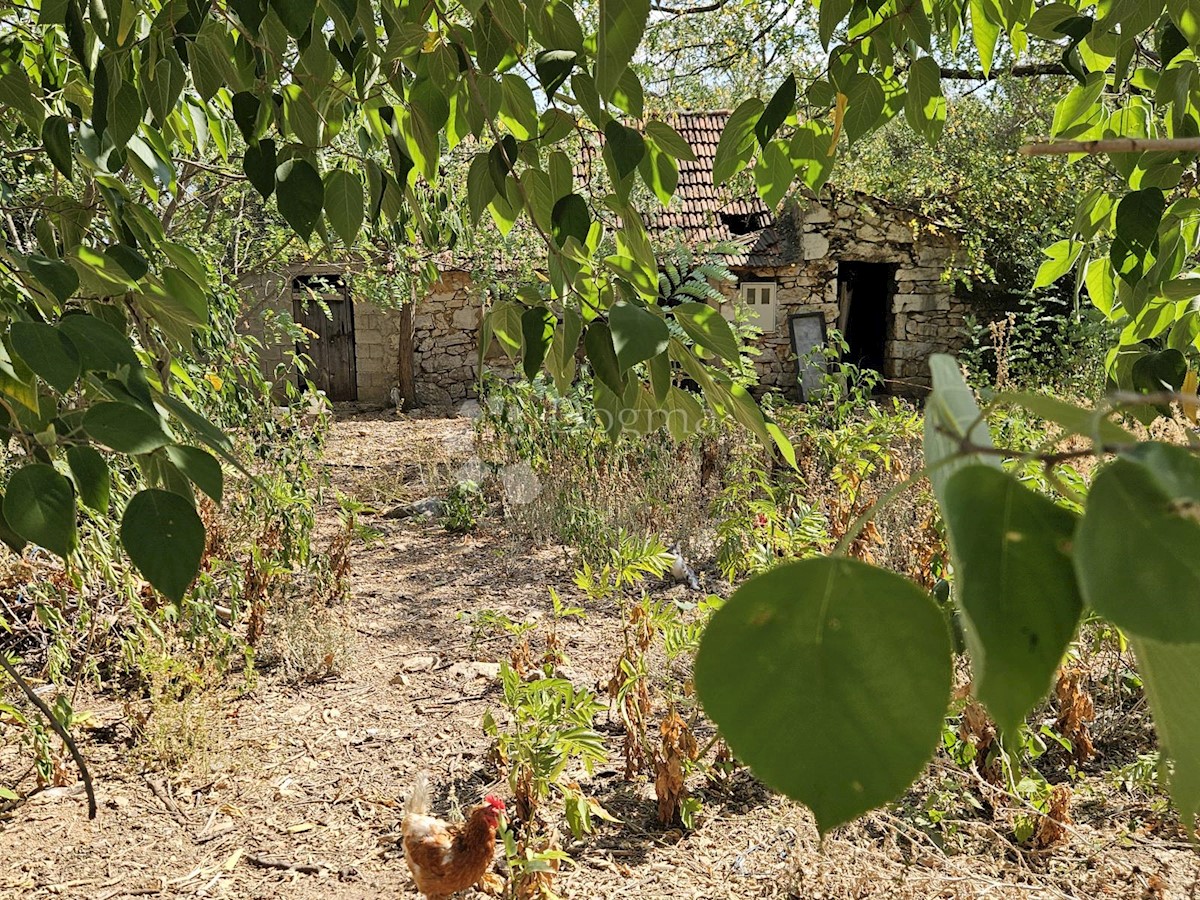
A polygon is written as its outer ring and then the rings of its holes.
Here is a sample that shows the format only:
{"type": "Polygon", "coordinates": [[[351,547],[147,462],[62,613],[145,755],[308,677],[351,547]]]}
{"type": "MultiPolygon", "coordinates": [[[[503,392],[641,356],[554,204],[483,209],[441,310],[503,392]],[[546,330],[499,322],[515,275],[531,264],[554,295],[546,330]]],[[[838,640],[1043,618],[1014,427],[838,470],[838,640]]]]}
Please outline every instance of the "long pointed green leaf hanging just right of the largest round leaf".
{"type": "Polygon", "coordinates": [[[976,696],[1015,736],[1084,608],[1069,553],[1075,516],[990,466],[955,472],[944,497],[976,696]]]}

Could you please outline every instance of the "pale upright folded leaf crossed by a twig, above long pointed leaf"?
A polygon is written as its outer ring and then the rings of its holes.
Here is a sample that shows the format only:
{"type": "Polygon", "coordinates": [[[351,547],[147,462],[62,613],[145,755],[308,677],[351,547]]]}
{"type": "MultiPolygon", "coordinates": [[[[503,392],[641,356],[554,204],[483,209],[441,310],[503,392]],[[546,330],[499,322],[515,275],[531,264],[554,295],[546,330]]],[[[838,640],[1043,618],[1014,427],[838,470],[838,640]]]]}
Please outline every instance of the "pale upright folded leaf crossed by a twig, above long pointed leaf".
{"type": "Polygon", "coordinates": [[[973,446],[990,448],[988,422],[974,401],[974,392],[962,378],[958,360],[944,353],[929,358],[934,390],[925,402],[925,467],[934,493],[946,509],[946,482],[966,466],[984,463],[1000,468],[1000,458],[984,454],[962,454],[966,440],[973,446]]]}

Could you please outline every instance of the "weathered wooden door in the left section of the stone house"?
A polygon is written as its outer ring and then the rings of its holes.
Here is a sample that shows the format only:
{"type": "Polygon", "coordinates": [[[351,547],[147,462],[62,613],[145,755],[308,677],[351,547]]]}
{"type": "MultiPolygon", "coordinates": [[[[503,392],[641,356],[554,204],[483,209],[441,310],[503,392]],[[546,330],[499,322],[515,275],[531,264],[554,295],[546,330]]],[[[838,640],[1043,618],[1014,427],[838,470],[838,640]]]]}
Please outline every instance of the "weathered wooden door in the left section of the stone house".
{"type": "Polygon", "coordinates": [[[307,378],[330,400],[358,400],[354,304],[340,275],[301,275],[292,281],[292,312],[312,332],[299,347],[312,360],[307,378]],[[328,314],[326,314],[328,310],[328,314]]]}

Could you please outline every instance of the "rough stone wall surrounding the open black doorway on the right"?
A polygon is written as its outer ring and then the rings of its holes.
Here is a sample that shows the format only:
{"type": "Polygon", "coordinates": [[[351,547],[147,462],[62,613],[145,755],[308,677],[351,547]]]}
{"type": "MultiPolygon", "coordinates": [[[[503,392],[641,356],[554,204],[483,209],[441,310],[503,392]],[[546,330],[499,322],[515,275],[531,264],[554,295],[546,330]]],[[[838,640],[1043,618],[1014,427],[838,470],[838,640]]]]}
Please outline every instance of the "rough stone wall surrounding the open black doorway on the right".
{"type": "MultiPolygon", "coordinates": [[[[776,283],[775,330],[764,332],[757,359],[764,386],[792,390],[797,361],[792,353],[788,317],[820,312],[826,325],[838,323],[839,263],[895,265],[884,378],[889,390],[906,392],[929,384],[930,354],[958,349],[967,306],[954,295],[949,280],[958,244],[953,235],[912,214],[865,198],[812,203],[793,211],[804,262],[776,269],[743,269],[745,281],[776,283]],[[914,233],[916,230],[916,233],[914,233]]],[[[722,288],[731,298],[737,286],[722,288]]]]}

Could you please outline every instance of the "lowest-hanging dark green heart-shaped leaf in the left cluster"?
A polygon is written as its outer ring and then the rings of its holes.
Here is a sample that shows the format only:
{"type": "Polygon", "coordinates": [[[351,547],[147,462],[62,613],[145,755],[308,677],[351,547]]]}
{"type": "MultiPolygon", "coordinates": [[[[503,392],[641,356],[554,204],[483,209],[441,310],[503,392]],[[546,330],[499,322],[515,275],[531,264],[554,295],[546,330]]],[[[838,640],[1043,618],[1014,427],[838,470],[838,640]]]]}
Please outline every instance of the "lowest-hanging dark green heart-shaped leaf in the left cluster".
{"type": "Polygon", "coordinates": [[[121,545],[142,576],[178,604],[200,568],[204,523],[178,493],[139,491],[121,517],[121,545]]]}

